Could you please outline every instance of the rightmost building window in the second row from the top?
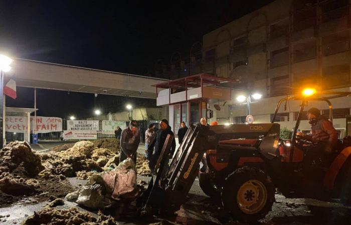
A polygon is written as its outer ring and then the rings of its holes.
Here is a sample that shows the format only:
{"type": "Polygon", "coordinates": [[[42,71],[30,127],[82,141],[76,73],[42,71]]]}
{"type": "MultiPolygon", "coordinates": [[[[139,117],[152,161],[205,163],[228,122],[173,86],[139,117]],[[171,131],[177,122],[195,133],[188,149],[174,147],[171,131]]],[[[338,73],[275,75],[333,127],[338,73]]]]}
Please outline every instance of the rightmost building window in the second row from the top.
{"type": "Polygon", "coordinates": [[[334,54],[349,49],[348,30],[333,33],[322,38],[323,55],[334,54]]]}

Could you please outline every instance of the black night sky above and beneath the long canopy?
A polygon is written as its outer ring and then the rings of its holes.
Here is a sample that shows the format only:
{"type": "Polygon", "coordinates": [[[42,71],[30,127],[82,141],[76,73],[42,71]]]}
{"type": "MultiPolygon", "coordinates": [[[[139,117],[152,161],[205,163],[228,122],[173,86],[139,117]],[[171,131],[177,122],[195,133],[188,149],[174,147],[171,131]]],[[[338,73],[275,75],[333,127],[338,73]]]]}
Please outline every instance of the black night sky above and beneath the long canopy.
{"type": "MultiPolygon", "coordinates": [[[[202,36],[272,0],[98,1],[1,0],[0,52],[13,57],[147,75],[157,59],[189,54],[202,36]],[[148,71],[148,73],[147,73],[148,71]]],[[[7,106],[33,107],[33,89],[18,88],[7,106]]],[[[155,100],[38,90],[38,114],[90,116],[126,102],[155,100]],[[56,103],[53,103],[55,99],[56,103]]]]}

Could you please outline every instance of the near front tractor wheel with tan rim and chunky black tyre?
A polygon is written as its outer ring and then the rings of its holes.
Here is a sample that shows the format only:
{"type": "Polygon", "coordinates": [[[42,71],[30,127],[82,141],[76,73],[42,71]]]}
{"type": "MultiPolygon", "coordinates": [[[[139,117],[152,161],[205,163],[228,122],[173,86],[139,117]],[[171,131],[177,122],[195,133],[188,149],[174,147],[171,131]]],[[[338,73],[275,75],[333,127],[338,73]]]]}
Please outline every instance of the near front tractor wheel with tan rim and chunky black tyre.
{"type": "Polygon", "coordinates": [[[275,188],[261,169],[243,166],[228,175],[222,203],[233,219],[257,221],[272,210],[275,188]]]}

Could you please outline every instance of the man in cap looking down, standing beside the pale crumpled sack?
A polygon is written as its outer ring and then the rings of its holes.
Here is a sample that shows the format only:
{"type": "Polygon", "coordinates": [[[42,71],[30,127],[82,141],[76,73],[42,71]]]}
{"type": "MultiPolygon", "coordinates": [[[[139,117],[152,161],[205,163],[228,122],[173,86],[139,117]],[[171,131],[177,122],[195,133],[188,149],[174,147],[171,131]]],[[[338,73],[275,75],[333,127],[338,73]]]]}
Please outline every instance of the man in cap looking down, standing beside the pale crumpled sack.
{"type": "Polygon", "coordinates": [[[132,158],[136,163],[136,150],[140,143],[140,131],[136,127],[136,120],[132,120],[130,125],[122,131],[121,134],[121,152],[119,154],[119,161],[132,158]]]}

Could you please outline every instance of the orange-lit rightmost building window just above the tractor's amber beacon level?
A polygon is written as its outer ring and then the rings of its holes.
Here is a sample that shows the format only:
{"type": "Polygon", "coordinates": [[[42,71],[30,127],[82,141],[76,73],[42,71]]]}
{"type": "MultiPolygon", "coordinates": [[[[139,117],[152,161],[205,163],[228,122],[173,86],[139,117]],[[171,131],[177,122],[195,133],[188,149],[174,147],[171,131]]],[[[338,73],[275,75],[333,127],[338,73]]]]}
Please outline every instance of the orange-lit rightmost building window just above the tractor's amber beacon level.
{"type": "Polygon", "coordinates": [[[322,68],[322,85],[324,88],[342,86],[349,83],[349,64],[331,65],[322,68]]]}

